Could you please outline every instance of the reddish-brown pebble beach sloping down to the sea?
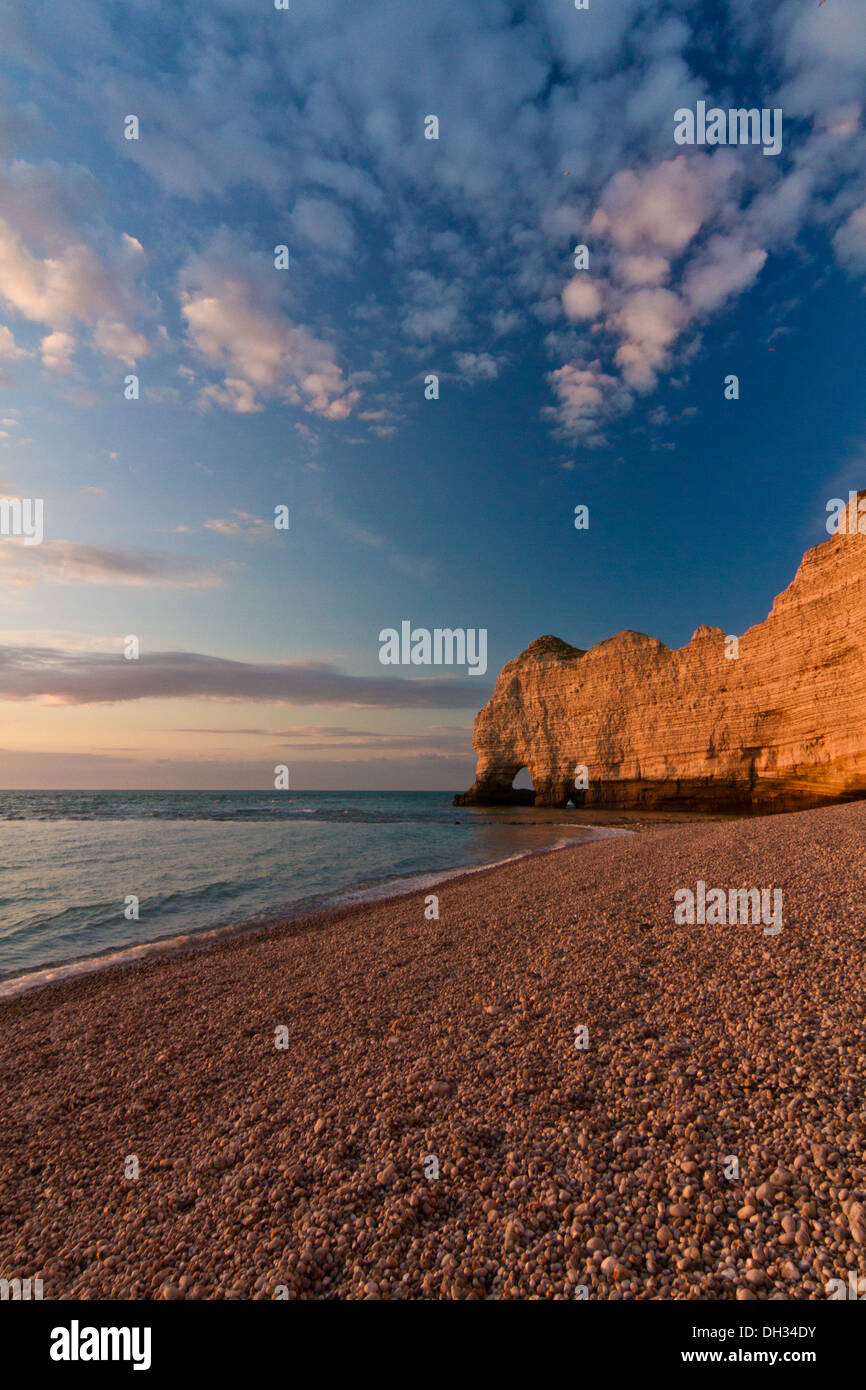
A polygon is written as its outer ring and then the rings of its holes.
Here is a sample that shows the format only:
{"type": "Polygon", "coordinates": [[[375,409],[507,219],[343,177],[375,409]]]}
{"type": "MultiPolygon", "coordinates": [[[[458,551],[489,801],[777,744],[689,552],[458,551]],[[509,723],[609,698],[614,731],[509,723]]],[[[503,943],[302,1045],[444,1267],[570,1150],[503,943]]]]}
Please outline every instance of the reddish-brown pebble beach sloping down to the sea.
{"type": "Polygon", "coordinates": [[[866,1276],[865,848],[865,802],[649,827],[450,878],[438,920],[423,891],[7,999],[0,1277],[826,1298],[866,1276]],[[781,888],[781,933],[676,926],[698,880],[781,888]]]}

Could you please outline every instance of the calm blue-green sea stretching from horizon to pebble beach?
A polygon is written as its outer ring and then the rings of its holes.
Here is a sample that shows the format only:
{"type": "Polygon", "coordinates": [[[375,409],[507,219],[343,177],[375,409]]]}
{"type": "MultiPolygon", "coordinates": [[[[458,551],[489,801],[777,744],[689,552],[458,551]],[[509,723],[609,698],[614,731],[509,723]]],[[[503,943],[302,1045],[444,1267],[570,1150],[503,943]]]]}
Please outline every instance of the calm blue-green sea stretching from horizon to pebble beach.
{"type": "Polygon", "coordinates": [[[569,812],[456,808],[449,792],[0,791],[0,992],[24,972],[606,833],[569,812]]]}

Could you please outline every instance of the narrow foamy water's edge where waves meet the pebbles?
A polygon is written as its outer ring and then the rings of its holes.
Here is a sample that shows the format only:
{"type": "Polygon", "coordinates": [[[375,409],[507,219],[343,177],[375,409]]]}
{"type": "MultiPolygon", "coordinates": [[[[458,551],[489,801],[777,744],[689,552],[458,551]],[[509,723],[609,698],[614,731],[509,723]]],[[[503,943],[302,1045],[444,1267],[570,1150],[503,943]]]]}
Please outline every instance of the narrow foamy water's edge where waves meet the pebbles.
{"type": "Polygon", "coordinates": [[[156,937],[152,941],[140,941],[117,949],[108,948],[106,951],[96,951],[92,955],[75,956],[71,960],[47,962],[44,965],[33,966],[31,970],[22,970],[17,974],[3,974],[0,976],[0,1005],[6,999],[14,999],[19,994],[42,988],[43,986],[63,984],[65,980],[75,980],[85,974],[122,969],[124,966],[135,965],[138,960],[174,955],[178,951],[192,951],[196,949],[197,945],[206,948],[209,945],[218,944],[222,938],[229,940],[236,935],[253,935],[261,931],[278,930],[279,927],[289,924],[297,927],[306,924],[314,926],[320,917],[334,917],[335,915],[339,915],[341,912],[356,905],[364,906],[367,903],[391,902],[393,898],[402,898],[420,892],[424,888],[432,888],[438,883],[448,883],[452,878],[463,877],[463,874],[484,873],[487,869],[498,869],[503,865],[518,863],[521,859],[530,859],[535,855],[556,853],[560,849],[578,848],[580,845],[635,833],[614,826],[591,826],[584,823],[578,824],[577,828],[587,834],[588,838],[562,838],[552,845],[546,845],[544,849],[521,849],[505,859],[493,859],[489,863],[482,865],[438,869],[431,870],[430,873],[385,878],[379,883],[371,884],[370,887],[349,888],[335,892],[332,897],[303,899],[296,905],[296,910],[274,908],[270,912],[261,912],[253,917],[245,917],[240,922],[227,922],[220,923],[215,927],[202,927],[196,931],[156,937]]]}

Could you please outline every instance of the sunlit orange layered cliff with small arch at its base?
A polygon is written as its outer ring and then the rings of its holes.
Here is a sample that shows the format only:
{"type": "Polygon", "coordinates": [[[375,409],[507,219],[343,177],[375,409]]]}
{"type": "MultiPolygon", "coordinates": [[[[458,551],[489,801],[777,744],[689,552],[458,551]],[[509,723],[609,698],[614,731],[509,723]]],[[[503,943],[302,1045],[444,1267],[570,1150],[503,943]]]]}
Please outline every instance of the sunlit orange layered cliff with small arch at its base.
{"type": "Polygon", "coordinates": [[[737,659],[712,627],[676,652],[642,632],[588,652],[538,638],[502,670],[473,744],[466,805],[790,810],[866,796],[866,535],[808,550],[737,659]],[[512,790],[521,767],[534,796],[512,790]]]}

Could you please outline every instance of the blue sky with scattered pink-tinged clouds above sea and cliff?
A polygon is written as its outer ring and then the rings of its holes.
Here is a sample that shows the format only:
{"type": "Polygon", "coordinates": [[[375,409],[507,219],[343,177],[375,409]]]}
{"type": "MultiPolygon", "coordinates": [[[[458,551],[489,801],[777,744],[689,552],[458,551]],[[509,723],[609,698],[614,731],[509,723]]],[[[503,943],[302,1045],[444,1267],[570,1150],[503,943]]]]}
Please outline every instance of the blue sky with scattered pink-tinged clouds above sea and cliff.
{"type": "Polygon", "coordinates": [[[534,638],[740,634],[866,484],[862,0],[7,0],[0,54],[3,787],[463,790],[534,638]]]}

